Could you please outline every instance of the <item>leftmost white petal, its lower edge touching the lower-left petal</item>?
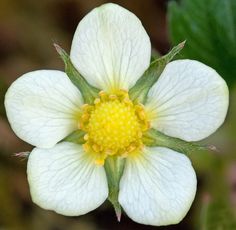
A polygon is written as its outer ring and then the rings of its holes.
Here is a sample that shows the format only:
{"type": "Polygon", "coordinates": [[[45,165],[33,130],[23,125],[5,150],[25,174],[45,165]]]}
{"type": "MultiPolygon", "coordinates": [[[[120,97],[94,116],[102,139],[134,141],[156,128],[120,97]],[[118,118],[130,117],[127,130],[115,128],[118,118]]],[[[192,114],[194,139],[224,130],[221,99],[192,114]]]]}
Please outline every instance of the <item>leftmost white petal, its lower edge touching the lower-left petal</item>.
{"type": "Polygon", "coordinates": [[[56,70],[24,74],[5,97],[7,117],[16,135],[42,148],[54,146],[77,129],[82,103],[79,90],[64,72],[56,70]]]}

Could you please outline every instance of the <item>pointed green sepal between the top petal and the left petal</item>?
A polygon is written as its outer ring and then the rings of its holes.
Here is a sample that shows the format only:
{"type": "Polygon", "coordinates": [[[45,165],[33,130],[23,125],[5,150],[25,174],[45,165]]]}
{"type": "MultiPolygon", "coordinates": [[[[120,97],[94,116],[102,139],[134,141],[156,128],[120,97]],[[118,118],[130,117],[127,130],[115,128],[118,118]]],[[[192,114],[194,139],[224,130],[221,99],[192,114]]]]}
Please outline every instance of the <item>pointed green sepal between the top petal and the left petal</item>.
{"type": "Polygon", "coordinates": [[[74,65],[70,60],[70,56],[63,50],[59,45],[54,43],[54,47],[56,51],[60,55],[61,59],[65,64],[65,72],[67,76],[70,78],[71,82],[80,90],[84,102],[88,104],[92,104],[94,99],[98,97],[99,89],[91,86],[85,78],[76,70],[74,65]]]}

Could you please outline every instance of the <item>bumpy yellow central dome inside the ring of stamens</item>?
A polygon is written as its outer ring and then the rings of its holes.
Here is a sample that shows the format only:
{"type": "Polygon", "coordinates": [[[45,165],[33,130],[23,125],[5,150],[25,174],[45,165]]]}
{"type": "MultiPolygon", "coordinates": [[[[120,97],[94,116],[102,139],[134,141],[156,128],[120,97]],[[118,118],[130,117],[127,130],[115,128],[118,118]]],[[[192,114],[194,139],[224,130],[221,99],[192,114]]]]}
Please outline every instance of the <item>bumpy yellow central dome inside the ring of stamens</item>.
{"type": "Polygon", "coordinates": [[[97,145],[111,151],[128,147],[141,132],[134,108],[117,100],[97,106],[91,113],[88,130],[97,145]]]}

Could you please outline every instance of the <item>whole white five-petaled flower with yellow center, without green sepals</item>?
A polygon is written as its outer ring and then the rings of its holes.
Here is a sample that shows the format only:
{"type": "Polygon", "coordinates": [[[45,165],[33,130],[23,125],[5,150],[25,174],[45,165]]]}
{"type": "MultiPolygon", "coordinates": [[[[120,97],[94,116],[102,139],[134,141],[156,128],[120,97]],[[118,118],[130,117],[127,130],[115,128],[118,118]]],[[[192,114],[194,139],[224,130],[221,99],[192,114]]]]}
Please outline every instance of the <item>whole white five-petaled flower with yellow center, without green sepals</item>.
{"type": "Polygon", "coordinates": [[[64,72],[39,70],[17,79],[5,106],[18,137],[36,146],[28,160],[33,201],[57,213],[85,214],[108,197],[107,157],[125,157],[119,203],[136,222],[178,223],[196,192],[189,159],[163,147],[143,147],[142,133],[198,141],[224,121],[228,88],[210,67],[193,60],[169,63],[143,106],[128,91],[150,65],[151,44],[139,19],[105,4],[79,23],[70,57],[86,80],[103,90],[93,105],[64,72]],[[80,128],[86,143],[61,142],[80,128]]]}

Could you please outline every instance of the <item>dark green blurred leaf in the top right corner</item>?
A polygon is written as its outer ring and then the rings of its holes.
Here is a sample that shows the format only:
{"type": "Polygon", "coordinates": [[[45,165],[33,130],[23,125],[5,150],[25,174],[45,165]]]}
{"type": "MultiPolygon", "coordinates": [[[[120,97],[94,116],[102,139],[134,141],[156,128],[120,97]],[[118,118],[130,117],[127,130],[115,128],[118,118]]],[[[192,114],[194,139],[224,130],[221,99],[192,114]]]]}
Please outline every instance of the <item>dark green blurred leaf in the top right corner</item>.
{"type": "Polygon", "coordinates": [[[184,39],[183,58],[199,60],[227,81],[236,79],[236,1],[171,1],[168,23],[172,44],[184,39]]]}

